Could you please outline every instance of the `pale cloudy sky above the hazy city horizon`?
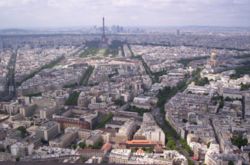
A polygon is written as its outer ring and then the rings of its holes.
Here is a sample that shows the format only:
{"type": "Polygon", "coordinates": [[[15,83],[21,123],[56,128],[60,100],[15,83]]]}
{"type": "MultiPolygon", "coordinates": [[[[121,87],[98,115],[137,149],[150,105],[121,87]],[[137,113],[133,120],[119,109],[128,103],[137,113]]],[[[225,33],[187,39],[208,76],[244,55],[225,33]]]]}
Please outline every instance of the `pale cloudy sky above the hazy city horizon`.
{"type": "Polygon", "coordinates": [[[250,27],[250,0],[0,0],[0,28],[250,27]]]}

